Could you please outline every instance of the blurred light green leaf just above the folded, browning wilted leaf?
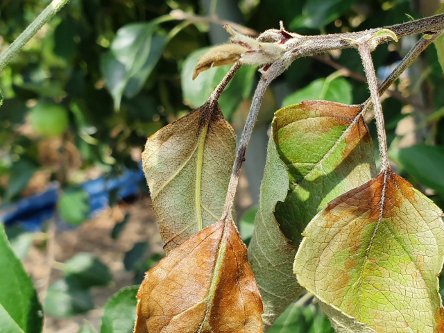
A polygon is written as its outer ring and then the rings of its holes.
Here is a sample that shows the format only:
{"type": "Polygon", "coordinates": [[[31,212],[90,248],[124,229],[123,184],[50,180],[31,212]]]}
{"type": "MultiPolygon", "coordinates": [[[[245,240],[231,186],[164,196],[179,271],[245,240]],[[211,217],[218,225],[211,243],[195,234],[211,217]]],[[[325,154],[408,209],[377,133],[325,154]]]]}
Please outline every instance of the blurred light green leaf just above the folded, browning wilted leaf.
{"type": "Polygon", "coordinates": [[[352,103],[352,85],[348,83],[348,80],[338,77],[336,74],[327,76],[327,78],[318,78],[307,87],[285,97],[282,107],[310,99],[350,104],[352,103]]]}

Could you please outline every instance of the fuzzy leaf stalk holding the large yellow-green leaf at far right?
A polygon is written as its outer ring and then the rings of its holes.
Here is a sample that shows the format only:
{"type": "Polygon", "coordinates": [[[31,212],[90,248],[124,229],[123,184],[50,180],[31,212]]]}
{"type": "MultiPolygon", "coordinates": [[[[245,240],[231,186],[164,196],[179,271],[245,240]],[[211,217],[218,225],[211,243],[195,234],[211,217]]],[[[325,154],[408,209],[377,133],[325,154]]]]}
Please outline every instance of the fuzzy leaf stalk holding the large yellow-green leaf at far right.
{"type": "Polygon", "coordinates": [[[379,155],[381,156],[381,172],[383,172],[390,167],[390,164],[388,163],[386,128],[384,125],[384,115],[382,114],[381,100],[379,99],[375,67],[373,66],[370,46],[368,46],[367,42],[359,43],[358,51],[362,64],[364,65],[364,71],[366,72],[367,83],[370,89],[370,97],[375,110],[377,141],[379,144],[379,155]]]}

